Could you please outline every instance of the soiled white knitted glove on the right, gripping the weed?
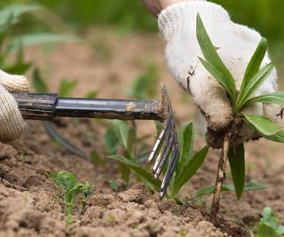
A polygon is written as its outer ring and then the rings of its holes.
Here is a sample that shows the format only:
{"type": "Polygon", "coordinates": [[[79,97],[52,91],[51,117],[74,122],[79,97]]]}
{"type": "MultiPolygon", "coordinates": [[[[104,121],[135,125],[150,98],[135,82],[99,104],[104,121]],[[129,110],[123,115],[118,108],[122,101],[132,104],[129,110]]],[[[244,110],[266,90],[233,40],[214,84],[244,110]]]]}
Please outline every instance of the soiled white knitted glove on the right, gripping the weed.
{"type": "MultiPolygon", "coordinates": [[[[238,25],[230,20],[228,13],[221,6],[203,1],[186,1],[172,4],[163,10],[158,17],[158,24],[166,42],[165,57],[170,73],[185,90],[187,78],[193,102],[200,108],[208,122],[209,134],[222,134],[233,120],[233,109],[227,98],[225,89],[201,65],[203,58],[196,37],[196,15],[201,19],[209,33],[217,53],[229,68],[237,90],[261,36],[253,29],[238,25]]],[[[262,67],[269,63],[266,53],[262,67]]],[[[272,72],[256,95],[276,91],[276,70],[272,72]]],[[[276,120],[278,107],[262,105],[248,107],[247,113],[265,115],[276,120]]],[[[253,130],[243,127],[238,135],[237,143],[252,138],[253,130]]],[[[214,144],[208,138],[210,146],[214,144]]]]}

